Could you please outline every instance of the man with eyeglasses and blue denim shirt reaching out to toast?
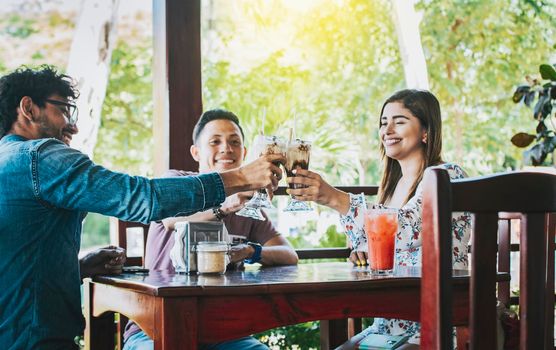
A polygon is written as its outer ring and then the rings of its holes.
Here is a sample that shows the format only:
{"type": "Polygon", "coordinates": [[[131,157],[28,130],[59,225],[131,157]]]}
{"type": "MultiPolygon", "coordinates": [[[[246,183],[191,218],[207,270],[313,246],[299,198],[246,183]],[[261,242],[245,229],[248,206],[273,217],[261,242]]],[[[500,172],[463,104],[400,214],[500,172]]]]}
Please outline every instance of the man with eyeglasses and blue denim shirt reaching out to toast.
{"type": "Polygon", "coordinates": [[[77,133],[71,78],[43,66],[0,78],[0,348],[77,349],[81,279],[121,271],[107,247],[78,260],[87,212],[150,222],[217,207],[226,196],[275,188],[262,157],[199,176],[147,179],[112,172],[69,146],[77,133]]]}

